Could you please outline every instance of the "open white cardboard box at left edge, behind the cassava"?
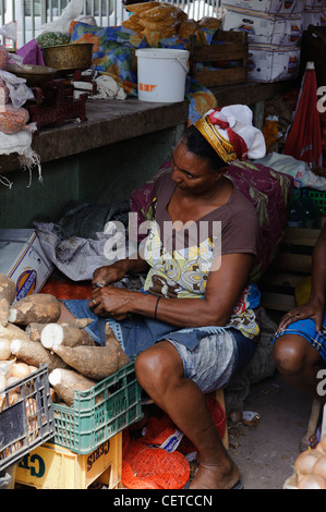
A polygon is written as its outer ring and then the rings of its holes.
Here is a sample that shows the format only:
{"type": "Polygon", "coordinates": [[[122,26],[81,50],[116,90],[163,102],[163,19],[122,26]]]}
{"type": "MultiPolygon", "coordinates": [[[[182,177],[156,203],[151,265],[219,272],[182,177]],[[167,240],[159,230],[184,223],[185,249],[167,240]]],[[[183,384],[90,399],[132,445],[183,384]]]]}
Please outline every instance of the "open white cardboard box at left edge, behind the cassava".
{"type": "Polygon", "coordinates": [[[0,229],[0,272],[16,283],[17,301],[37,293],[52,269],[33,229],[0,229]]]}

